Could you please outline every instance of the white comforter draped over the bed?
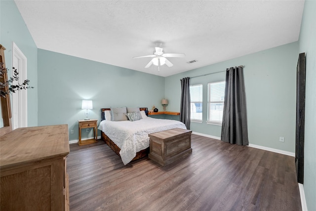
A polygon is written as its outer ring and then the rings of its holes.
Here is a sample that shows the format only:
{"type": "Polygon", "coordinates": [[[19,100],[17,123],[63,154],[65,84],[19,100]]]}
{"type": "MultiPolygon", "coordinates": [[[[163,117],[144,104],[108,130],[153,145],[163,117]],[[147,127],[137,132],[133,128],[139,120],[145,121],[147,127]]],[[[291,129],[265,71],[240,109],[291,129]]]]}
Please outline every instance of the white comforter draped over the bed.
{"type": "Polygon", "coordinates": [[[186,129],[186,126],[176,120],[148,117],[134,122],[104,120],[98,127],[118,145],[120,148],[119,154],[124,165],[136,156],[136,152],[149,147],[148,134],[173,128],[186,129]]]}

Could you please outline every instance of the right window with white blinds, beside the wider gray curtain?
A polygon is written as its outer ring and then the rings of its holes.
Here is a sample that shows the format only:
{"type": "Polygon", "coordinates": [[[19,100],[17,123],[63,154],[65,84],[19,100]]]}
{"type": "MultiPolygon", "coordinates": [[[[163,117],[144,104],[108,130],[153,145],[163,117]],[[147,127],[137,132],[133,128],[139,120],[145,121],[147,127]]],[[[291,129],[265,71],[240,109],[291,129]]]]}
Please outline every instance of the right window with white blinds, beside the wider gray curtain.
{"type": "Polygon", "coordinates": [[[207,123],[222,125],[225,81],[207,84],[208,89],[208,117],[207,123]]]}

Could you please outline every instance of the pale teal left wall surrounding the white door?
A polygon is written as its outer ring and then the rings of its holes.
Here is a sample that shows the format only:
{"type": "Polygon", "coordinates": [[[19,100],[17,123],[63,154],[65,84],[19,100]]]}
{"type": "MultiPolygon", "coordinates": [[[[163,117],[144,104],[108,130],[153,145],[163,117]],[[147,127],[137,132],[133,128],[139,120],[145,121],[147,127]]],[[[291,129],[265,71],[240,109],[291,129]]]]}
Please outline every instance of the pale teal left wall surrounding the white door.
{"type": "MultiPolygon", "coordinates": [[[[38,49],[13,0],[0,0],[0,43],[4,51],[5,65],[12,72],[12,43],[27,57],[27,79],[34,89],[28,90],[28,126],[38,125],[38,49]]],[[[0,127],[3,126],[2,118],[0,127]]]]}

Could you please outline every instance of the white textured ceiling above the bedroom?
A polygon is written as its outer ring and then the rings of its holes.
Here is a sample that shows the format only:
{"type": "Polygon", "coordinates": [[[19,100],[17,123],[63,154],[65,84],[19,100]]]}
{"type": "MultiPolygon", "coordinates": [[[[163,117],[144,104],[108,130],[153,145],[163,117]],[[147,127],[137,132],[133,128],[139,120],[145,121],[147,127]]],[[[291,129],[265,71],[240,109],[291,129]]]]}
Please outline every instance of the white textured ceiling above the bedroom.
{"type": "Polygon", "coordinates": [[[295,42],[304,7],[304,0],[15,2],[38,48],[163,77],[295,42]],[[151,58],[132,59],[153,54],[157,41],[186,57],[169,58],[174,66],[160,71],[144,68],[151,58]]]}

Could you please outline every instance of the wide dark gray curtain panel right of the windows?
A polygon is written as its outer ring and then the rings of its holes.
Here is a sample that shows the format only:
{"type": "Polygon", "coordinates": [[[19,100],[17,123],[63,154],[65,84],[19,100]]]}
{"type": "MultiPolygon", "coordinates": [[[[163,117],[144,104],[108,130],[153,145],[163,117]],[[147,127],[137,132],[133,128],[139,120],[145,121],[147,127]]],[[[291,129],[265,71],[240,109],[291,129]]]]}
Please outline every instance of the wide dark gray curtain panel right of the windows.
{"type": "Polygon", "coordinates": [[[249,144],[242,67],[231,67],[226,71],[221,140],[231,144],[249,144]]]}

